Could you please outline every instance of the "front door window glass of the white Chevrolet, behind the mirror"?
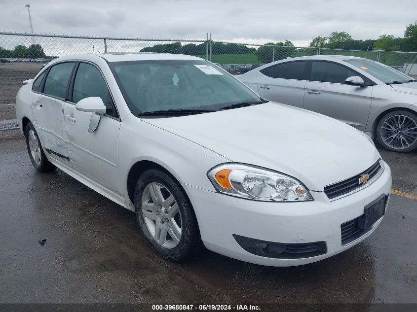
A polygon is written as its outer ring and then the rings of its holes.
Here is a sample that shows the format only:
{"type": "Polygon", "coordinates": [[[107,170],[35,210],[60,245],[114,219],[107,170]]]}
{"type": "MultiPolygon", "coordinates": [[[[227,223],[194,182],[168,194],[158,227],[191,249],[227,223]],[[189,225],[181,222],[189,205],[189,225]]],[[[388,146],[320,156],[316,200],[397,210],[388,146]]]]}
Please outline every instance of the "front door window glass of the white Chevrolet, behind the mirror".
{"type": "Polygon", "coordinates": [[[107,107],[107,114],[116,117],[112,97],[100,70],[87,63],[80,63],[74,80],[72,102],[89,97],[99,97],[107,107]]]}

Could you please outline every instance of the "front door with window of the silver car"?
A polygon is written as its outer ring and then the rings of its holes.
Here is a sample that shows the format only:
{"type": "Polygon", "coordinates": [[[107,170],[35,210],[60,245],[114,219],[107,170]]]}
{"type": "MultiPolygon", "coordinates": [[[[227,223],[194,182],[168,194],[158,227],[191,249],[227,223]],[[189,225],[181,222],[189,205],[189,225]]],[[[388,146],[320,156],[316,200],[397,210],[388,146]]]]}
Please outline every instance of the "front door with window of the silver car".
{"type": "Polygon", "coordinates": [[[372,81],[339,63],[311,61],[310,79],[305,84],[304,108],[365,130],[371,109],[372,81]],[[344,83],[350,76],[361,76],[369,86],[344,83]]]}

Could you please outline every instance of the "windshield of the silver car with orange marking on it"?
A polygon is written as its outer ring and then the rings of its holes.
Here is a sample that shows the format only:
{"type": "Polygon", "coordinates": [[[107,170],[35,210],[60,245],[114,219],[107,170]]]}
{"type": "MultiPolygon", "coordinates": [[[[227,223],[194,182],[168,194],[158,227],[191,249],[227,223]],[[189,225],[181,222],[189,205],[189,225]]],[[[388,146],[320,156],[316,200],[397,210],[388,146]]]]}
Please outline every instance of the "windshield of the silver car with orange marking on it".
{"type": "Polygon", "coordinates": [[[365,70],[386,84],[406,83],[413,80],[413,78],[407,76],[406,74],[375,61],[367,59],[350,59],[344,61],[359,69],[365,70]]]}

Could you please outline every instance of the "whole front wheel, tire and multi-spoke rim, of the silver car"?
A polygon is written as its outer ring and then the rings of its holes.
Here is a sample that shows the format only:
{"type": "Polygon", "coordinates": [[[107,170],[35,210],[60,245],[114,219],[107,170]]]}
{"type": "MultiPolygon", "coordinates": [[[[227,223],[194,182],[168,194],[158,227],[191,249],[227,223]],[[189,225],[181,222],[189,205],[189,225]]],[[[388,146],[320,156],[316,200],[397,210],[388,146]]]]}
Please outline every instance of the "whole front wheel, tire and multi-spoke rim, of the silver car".
{"type": "Polygon", "coordinates": [[[417,148],[417,115],[406,110],[391,111],[377,125],[379,143],[395,152],[408,153],[417,148]]]}

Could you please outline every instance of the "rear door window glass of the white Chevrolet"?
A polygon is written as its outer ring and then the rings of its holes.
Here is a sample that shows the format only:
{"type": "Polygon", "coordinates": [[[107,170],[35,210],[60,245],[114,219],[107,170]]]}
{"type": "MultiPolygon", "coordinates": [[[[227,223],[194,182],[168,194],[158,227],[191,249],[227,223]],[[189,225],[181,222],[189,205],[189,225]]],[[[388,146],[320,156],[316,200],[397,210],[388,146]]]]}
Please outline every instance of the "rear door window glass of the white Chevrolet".
{"type": "Polygon", "coordinates": [[[73,62],[54,65],[48,72],[43,93],[65,99],[68,81],[74,67],[73,62]]]}

